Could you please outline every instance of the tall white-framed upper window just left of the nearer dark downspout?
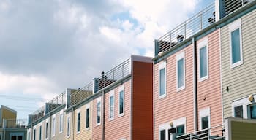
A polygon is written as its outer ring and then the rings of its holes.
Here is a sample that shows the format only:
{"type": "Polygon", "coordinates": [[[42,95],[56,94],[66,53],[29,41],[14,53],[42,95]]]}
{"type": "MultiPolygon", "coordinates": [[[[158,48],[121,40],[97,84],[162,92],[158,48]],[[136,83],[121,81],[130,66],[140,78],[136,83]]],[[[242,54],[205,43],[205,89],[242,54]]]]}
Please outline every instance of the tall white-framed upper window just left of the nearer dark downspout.
{"type": "Polygon", "coordinates": [[[176,55],[176,89],[183,90],[185,88],[185,60],[184,52],[176,55]]]}

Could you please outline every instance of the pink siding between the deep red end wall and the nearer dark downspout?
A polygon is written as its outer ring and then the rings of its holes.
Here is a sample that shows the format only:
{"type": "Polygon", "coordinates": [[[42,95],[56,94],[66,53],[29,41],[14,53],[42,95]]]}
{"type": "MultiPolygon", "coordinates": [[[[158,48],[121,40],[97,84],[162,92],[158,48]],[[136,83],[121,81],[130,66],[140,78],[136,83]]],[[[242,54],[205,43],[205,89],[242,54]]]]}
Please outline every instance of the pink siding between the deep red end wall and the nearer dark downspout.
{"type": "MultiPolygon", "coordinates": [[[[161,63],[161,62],[160,62],[161,63]]],[[[186,132],[194,131],[192,45],[167,58],[167,96],[159,99],[159,63],[154,65],[154,139],[159,139],[159,125],[186,117],[186,132]],[[176,55],[184,51],[186,88],[176,91],[176,55]]]]}

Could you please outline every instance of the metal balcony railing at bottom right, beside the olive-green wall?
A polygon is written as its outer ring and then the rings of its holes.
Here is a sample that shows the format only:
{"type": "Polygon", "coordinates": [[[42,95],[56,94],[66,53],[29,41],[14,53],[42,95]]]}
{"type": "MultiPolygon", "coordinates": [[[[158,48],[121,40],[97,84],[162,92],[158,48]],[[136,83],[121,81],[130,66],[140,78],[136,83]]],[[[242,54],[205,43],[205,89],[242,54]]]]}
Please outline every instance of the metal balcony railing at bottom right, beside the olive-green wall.
{"type": "Polygon", "coordinates": [[[181,136],[176,136],[176,140],[224,140],[225,139],[225,125],[217,125],[212,128],[206,128],[202,131],[194,133],[187,133],[181,136]]]}

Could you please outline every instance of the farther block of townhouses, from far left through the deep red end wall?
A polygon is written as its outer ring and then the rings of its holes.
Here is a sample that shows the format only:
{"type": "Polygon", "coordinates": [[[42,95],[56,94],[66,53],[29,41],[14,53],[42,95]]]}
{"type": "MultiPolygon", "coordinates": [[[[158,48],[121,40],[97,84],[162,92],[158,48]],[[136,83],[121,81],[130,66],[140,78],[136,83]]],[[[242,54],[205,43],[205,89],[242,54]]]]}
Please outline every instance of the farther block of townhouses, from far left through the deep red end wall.
{"type": "Polygon", "coordinates": [[[152,139],[153,61],[132,55],[29,115],[27,140],[152,139]]]}

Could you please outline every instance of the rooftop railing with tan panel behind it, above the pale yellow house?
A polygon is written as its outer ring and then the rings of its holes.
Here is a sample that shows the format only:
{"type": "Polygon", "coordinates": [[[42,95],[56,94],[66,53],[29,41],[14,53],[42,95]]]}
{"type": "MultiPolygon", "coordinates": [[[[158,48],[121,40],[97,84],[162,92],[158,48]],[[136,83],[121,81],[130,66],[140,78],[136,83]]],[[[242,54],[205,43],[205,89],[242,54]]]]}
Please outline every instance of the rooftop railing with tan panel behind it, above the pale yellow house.
{"type": "Polygon", "coordinates": [[[92,82],[89,82],[89,84],[87,84],[83,88],[80,88],[78,90],[72,90],[69,97],[70,102],[67,105],[67,107],[78,104],[80,101],[83,101],[83,99],[91,96],[92,87],[93,87],[92,82]]]}

